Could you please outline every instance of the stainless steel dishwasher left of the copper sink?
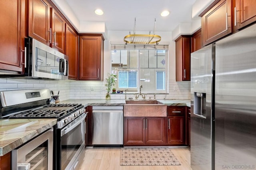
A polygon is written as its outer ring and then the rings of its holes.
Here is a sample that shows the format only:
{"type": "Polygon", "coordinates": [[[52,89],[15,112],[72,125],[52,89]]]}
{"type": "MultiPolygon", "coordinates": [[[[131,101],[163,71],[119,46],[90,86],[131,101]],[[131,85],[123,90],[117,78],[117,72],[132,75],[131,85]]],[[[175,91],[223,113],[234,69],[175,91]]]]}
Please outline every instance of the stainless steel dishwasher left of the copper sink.
{"type": "Polygon", "coordinates": [[[123,106],[92,106],[93,147],[123,147],[123,106]]]}

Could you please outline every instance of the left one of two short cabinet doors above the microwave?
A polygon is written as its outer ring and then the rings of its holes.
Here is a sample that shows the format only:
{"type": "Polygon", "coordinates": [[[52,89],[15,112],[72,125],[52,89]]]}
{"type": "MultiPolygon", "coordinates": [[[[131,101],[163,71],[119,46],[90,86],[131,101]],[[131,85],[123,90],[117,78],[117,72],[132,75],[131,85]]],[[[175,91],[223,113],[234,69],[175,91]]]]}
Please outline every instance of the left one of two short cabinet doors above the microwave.
{"type": "Polygon", "coordinates": [[[29,0],[28,35],[50,46],[50,4],[47,0],[29,0]]]}

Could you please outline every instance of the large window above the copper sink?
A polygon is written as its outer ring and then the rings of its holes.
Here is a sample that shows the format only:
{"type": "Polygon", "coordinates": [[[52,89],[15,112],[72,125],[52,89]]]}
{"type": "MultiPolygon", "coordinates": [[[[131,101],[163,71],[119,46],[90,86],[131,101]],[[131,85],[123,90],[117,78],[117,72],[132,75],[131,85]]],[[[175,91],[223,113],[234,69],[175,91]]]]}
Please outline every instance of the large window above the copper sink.
{"type": "Polygon", "coordinates": [[[142,85],[144,94],[168,93],[168,45],[111,45],[111,59],[118,90],[137,93],[142,85]]]}

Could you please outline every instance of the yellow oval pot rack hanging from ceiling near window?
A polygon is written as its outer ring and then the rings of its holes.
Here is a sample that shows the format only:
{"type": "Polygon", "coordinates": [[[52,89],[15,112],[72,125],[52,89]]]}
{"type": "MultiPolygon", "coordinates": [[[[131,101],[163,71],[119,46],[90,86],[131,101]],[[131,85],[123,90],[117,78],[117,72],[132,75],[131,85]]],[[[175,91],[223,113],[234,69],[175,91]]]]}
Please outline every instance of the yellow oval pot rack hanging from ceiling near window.
{"type": "Polygon", "coordinates": [[[136,34],[136,18],[134,19],[134,31],[133,34],[126,35],[124,37],[125,44],[158,44],[159,41],[161,41],[160,35],[155,35],[155,29],[156,29],[156,18],[154,23],[154,32],[153,34],[136,34]]]}

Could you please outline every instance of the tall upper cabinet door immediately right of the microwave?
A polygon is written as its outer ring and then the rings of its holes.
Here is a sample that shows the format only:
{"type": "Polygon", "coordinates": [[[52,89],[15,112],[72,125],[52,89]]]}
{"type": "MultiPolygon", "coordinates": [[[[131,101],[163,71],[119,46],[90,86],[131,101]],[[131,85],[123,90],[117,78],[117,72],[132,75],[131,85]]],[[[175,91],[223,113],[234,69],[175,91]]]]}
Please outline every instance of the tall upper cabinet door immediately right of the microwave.
{"type": "Polygon", "coordinates": [[[68,78],[78,80],[78,35],[66,23],[66,55],[68,56],[68,78]]]}

